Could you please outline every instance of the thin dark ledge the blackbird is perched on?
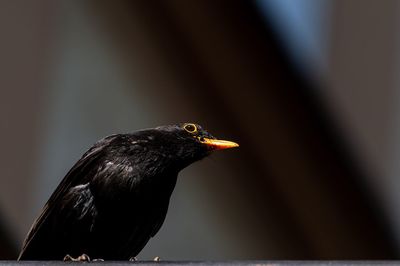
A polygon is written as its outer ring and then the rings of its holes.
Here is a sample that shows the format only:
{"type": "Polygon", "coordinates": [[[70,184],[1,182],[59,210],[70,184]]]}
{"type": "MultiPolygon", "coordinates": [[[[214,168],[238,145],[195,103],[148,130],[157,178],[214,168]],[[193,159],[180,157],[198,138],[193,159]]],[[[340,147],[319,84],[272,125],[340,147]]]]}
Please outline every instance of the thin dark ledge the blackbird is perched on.
{"type": "Polygon", "coordinates": [[[66,264],[90,264],[90,265],[114,265],[114,266],[123,266],[139,264],[139,265],[151,265],[151,266],[162,266],[162,265],[191,265],[191,266],[228,266],[228,265],[249,265],[249,266],[361,266],[361,265],[372,265],[372,266],[380,266],[380,265],[400,265],[400,261],[102,261],[102,262],[63,262],[63,261],[11,261],[4,260],[0,261],[0,265],[66,265],[66,264]]]}

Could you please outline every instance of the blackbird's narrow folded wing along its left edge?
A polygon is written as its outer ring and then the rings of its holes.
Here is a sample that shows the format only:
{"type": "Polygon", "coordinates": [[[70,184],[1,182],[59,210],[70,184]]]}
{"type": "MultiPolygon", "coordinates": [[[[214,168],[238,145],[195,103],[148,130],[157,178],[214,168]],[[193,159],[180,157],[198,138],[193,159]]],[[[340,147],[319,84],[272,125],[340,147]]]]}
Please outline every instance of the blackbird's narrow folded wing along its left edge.
{"type": "Polygon", "coordinates": [[[104,148],[107,147],[114,139],[119,135],[111,135],[100,141],[98,141],[93,147],[91,147],[82,158],[71,168],[67,173],[61,183],[58,185],[56,190],[51,195],[50,199],[47,201],[39,217],[33,223],[31,229],[29,230],[23,246],[21,253],[19,255],[20,259],[31,241],[35,238],[37,232],[39,232],[41,226],[46,221],[46,218],[52,213],[54,207],[62,199],[63,195],[72,187],[79,185],[85,176],[89,174],[92,169],[92,165],[96,164],[98,160],[104,154],[104,148]]]}

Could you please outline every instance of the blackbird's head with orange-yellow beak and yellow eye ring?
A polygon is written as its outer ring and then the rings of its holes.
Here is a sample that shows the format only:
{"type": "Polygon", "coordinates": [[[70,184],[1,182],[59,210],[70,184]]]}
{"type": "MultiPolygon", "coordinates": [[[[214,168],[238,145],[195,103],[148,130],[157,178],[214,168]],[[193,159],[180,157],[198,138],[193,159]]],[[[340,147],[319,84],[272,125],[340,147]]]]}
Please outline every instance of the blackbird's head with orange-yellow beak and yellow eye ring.
{"type": "Polygon", "coordinates": [[[163,155],[179,163],[182,168],[215,150],[239,146],[232,141],[216,139],[200,125],[193,123],[160,126],[147,131],[147,134],[152,139],[153,147],[157,147],[163,155]]]}

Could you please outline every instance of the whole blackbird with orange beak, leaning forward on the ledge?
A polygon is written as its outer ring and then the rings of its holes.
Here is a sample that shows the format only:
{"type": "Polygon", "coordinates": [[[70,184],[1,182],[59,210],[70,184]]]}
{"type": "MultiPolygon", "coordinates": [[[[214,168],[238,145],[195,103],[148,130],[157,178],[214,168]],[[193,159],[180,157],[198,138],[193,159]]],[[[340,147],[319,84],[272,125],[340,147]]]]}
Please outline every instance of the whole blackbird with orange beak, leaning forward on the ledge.
{"type": "Polygon", "coordinates": [[[182,123],[114,134],[75,163],[29,230],[18,260],[129,260],[161,228],[178,173],[238,147],[182,123]]]}

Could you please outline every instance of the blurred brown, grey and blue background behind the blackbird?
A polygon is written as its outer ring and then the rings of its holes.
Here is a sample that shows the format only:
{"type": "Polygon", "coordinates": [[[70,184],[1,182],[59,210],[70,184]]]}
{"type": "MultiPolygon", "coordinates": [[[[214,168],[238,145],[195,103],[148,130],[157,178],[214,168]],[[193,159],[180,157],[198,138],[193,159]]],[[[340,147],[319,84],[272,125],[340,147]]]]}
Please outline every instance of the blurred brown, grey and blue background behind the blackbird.
{"type": "Polygon", "coordinates": [[[139,259],[400,258],[399,1],[0,0],[0,258],[97,139],[196,122],[139,259]]]}

